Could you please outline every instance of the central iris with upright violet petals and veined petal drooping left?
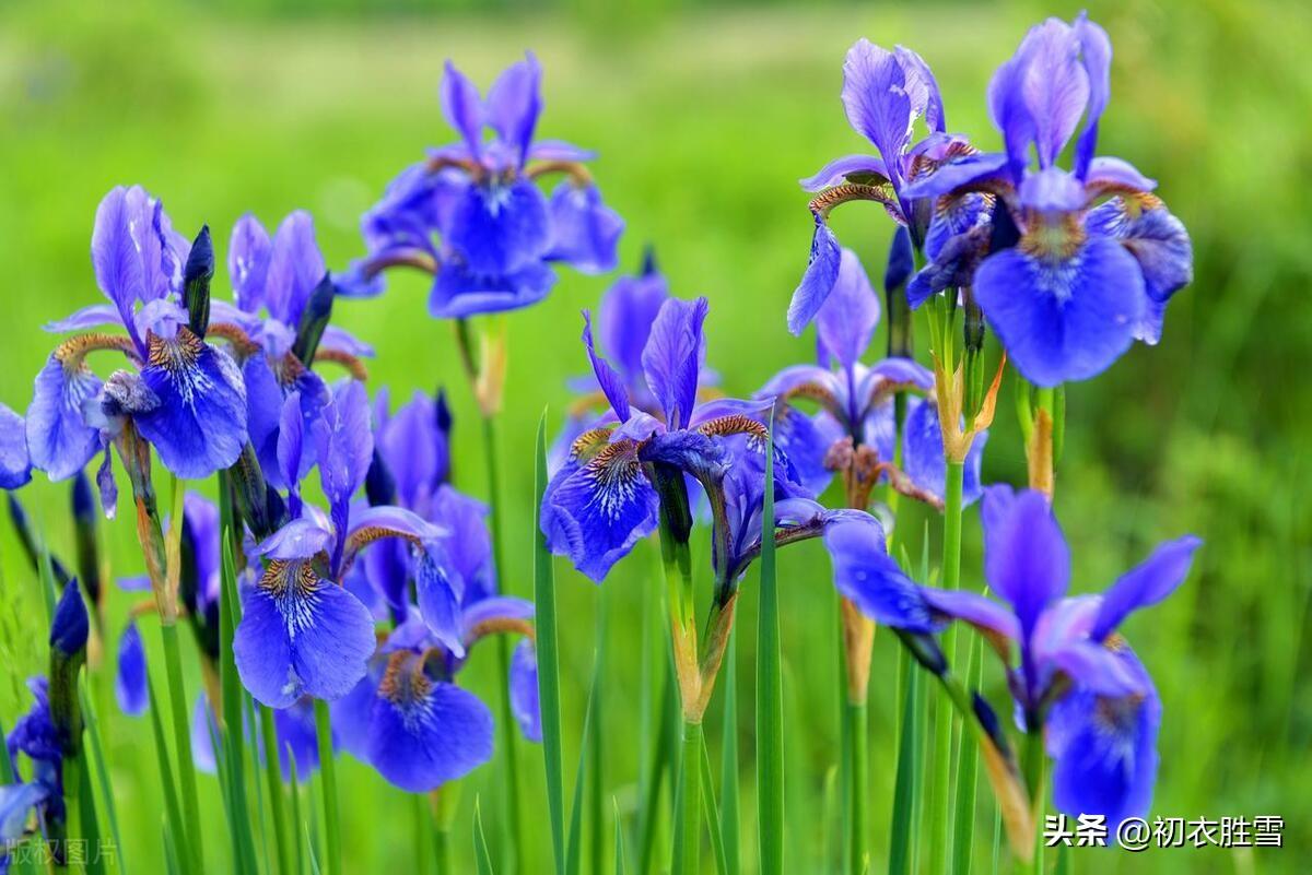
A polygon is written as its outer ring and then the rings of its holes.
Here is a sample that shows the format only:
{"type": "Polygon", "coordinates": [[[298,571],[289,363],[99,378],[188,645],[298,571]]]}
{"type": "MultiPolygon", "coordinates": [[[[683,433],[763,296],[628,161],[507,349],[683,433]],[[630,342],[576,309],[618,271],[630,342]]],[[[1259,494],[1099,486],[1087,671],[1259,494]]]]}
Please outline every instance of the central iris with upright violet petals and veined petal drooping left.
{"type": "Polygon", "coordinates": [[[597,355],[592,316],[584,312],[584,347],[610,411],[575,440],[547,483],[542,531],[552,553],[568,555],[598,583],[656,528],[660,502],[648,469],[682,472],[718,495],[732,462],[723,438],[765,435],[757,417],[768,402],[719,398],[697,403],[706,313],[705,297],[672,297],[661,304],[642,352],[656,403],[656,413],[648,413],[634,403],[621,373],[597,355]]]}

